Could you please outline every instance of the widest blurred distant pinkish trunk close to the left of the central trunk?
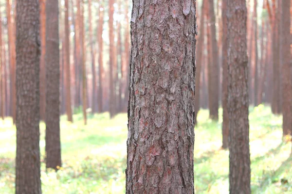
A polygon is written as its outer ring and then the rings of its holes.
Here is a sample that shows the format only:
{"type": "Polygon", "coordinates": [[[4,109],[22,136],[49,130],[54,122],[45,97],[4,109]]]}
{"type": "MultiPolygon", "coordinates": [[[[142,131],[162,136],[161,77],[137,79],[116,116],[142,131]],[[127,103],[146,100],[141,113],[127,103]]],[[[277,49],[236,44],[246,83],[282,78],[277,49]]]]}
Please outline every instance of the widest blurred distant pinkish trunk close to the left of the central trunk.
{"type": "Polygon", "coordinates": [[[113,36],[113,3],[114,0],[109,0],[109,38],[110,38],[110,118],[112,118],[114,116],[114,109],[115,109],[115,88],[114,88],[114,81],[113,81],[113,69],[114,69],[114,60],[113,60],[113,47],[114,47],[114,36],[113,36]]]}

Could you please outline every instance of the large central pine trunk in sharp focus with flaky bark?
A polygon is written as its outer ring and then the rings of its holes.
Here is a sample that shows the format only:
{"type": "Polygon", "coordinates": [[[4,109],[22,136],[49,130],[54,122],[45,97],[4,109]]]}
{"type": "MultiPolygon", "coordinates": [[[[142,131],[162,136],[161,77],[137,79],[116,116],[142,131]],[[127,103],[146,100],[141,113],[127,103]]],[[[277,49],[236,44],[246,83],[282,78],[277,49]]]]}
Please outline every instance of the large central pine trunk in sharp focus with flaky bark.
{"type": "Polygon", "coordinates": [[[133,0],[127,194],[194,194],[195,11],[133,0]]]}

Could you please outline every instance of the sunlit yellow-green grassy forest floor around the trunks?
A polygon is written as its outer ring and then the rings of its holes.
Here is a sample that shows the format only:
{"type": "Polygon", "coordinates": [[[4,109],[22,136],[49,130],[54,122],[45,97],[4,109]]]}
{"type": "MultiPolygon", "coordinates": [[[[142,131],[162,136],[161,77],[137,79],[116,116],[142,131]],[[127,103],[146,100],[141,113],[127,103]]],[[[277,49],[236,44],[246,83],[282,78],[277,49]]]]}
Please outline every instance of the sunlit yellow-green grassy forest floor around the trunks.
{"type": "MultiPolygon", "coordinates": [[[[220,114],[222,111],[220,110],[220,114]]],[[[125,194],[127,114],[74,114],[61,117],[63,166],[46,172],[45,126],[40,124],[43,194],[125,194]]],[[[221,123],[201,110],[195,128],[194,174],[197,194],[227,194],[228,150],[221,149],[221,123]]],[[[292,194],[291,143],[282,141],[282,117],[259,105],[250,109],[251,187],[253,194],[292,194]]],[[[16,129],[0,120],[0,194],[14,194],[16,129]]]]}

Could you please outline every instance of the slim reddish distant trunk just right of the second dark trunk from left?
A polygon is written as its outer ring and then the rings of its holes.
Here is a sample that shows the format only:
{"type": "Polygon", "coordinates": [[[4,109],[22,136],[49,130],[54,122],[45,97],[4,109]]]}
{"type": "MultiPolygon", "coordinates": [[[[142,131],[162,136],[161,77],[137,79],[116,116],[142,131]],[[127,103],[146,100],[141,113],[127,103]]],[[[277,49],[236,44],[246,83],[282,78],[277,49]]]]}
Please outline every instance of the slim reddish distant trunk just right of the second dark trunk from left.
{"type": "Polygon", "coordinates": [[[69,33],[69,3],[65,0],[65,53],[64,53],[64,75],[66,86],[66,113],[68,121],[73,122],[72,108],[71,108],[71,82],[70,82],[70,33],[69,33]]]}

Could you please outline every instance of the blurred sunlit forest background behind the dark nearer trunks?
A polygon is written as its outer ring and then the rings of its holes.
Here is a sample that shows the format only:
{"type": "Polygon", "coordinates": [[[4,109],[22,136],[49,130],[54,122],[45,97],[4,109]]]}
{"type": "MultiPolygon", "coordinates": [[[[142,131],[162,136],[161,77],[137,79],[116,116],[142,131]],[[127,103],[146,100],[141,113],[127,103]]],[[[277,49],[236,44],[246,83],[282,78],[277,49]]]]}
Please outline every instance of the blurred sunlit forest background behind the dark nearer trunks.
{"type": "MultiPolygon", "coordinates": [[[[197,1],[195,191],[225,194],[229,172],[229,152],[222,149],[227,147],[227,139],[221,130],[221,107],[226,106],[225,31],[222,0],[211,1],[197,1]],[[213,11],[208,9],[210,2],[213,11]]],[[[255,194],[292,193],[291,137],[289,129],[282,128],[282,75],[289,68],[283,68],[281,61],[281,2],[247,0],[251,185],[255,194]]],[[[0,0],[1,194],[15,191],[15,3],[0,0]]],[[[132,4],[128,0],[59,0],[62,167],[57,172],[46,171],[44,161],[45,0],[39,0],[39,5],[42,192],[125,193],[132,4]]],[[[292,29],[290,32],[292,52],[292,29]]]]}

